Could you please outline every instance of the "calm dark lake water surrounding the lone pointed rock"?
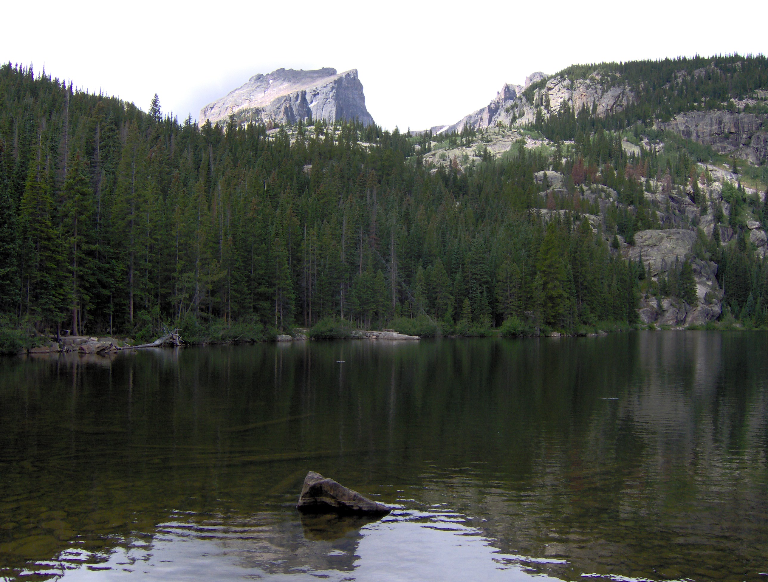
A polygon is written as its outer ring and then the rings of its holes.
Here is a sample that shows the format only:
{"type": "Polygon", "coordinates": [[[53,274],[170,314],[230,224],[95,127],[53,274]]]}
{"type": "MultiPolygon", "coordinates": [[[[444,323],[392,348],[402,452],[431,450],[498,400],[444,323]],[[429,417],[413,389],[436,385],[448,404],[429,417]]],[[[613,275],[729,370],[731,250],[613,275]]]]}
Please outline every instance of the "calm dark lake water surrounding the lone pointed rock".
{"type": "Polygon", "coordinates": [[[0,359],[0,580],[766,580],[768,334],[0,359]],[[398,509],[302,518],[306,471],[398,509]]]}

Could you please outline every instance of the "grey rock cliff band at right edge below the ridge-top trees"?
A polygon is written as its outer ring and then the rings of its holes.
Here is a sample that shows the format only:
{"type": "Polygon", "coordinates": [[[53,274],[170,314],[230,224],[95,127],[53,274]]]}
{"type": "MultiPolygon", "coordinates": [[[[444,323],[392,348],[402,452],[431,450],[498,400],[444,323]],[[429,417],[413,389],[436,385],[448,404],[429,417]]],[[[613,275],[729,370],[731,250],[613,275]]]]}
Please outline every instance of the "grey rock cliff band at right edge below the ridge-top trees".
{"type": "Polygon", "coordinates": [[[730,111],[689,111],[661,129],[710,145],[718,154],[735,155],[753,164],[768,160],[768,116],[730,111]]]}

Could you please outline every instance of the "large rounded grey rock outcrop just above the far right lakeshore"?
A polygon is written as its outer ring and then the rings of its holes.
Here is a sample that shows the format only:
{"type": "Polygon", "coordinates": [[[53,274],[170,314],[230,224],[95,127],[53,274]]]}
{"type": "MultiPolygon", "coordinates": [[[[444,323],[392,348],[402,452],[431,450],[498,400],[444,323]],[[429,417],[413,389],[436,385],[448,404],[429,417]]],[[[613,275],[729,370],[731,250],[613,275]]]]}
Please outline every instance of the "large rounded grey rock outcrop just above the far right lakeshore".
{"type": "Polygon", "coordinates": [[[697,233],[682,229],[642,230],[634,235],[634,246],[628,246],[624,254],[630,260],[642,260],[647,276],[666,276],[677,261],[689,260],[696,280],[695,305],[670,297],[644,297],[637,312],[641,322],[698,326],[720,316],[723,292],[717,284],[717,264],[691,255],[696,240],[697,233]]]}

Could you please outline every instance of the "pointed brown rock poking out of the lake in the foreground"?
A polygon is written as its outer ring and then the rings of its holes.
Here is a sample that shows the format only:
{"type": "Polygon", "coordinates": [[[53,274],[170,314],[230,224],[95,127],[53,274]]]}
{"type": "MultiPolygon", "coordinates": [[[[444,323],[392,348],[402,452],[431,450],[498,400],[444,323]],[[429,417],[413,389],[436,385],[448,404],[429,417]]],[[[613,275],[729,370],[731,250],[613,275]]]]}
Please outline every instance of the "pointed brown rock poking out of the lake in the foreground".
{"type": "Polygon", "coordinates": [[[310,471],[304,478],[296,509],[307,513],[336,511],[348,514],[386,515],[392,508],[363,497],[357,491],[310,471]]]}

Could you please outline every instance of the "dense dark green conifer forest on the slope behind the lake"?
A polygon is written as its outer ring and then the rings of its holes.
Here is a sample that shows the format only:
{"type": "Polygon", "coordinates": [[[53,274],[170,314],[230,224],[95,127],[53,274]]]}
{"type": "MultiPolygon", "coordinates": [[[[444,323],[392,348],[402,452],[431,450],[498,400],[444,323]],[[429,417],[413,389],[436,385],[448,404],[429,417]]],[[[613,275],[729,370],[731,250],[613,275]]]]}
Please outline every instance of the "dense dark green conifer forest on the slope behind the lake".
{"type": "Polygon", "coordinates": [[[38,332],[289,329],[516,316],[636,318],[640,263],[587,221],[545,224],[518,147],[425,167],[418,140],[355,124],[197,127],[31,68],[0,68],[0,305],[38,332]],[[197,326],[197,327],[196,327],[197,326]]]}

